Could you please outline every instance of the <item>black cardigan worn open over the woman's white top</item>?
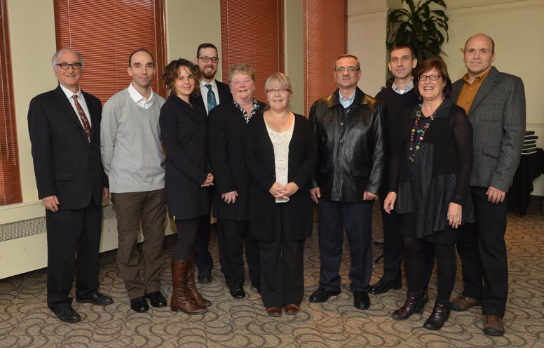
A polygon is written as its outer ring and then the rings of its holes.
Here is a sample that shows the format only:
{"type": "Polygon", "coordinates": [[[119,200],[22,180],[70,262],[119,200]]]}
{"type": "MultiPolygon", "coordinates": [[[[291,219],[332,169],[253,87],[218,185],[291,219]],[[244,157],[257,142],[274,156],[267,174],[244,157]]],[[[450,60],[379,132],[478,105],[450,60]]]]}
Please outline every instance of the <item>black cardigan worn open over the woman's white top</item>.
{"type": "MultiPolygon", "coordinates": [[[[313,128],[301,115],[294,115],[294,129],[289,143],[289,170],[287,180],[299,186],[290,197],[289,231],[291,239],[304,239],[312,232],[312,208],[310,179],[318,161],[318,148],[313,128]]],[[[273,241],[276,199],[268,192],[276,182],[274,148],[263,114],[255,114],[245,135],[245,159],[252,177],[250,192],[250,231],[254,239],[273,241]]]]}

